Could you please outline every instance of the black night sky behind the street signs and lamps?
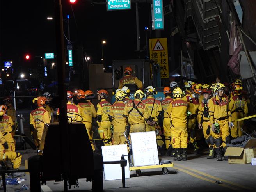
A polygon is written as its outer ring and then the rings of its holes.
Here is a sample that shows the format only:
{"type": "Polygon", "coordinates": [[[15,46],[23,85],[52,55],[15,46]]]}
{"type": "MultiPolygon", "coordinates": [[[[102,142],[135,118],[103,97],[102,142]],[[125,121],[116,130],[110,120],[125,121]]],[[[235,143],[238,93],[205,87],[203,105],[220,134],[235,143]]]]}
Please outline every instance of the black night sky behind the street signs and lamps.
{"type": "MultiPolygon", "coordinates": [[[[82,42],[87,54],[92,55],[94,63],[100,62],[103,39],[107,41],[104,54],[107,55],[108,62],[115,59],[135,59],[135,4],[132,4],[132,10],[106,11],[106,5],[91,5],[88,0],[77,1],[78,4],[73,5],[73,11],[78,30],[68,0],[62,0],[63,18],[67,14],[71,18],[71,41],[78,39],[82,42]]],[[[149,26],[149,5],[139,4],[139,7],[142,49],[145,45],[144,27],[149,26]]],[[[6,60],[25,65],[25,53],[34,57],[55,52],[55,24],[53,20],[48,21],[47,16],[54,17],[53,0],[1,1],[1,66],[6,60]]],[[[65,31],[66,28],[64,23],[65,31]]],[[[65,34],[67,36],[67,32],[65,34]]],[[[34,62],[33,59],[31,62],[34,62]]]]}

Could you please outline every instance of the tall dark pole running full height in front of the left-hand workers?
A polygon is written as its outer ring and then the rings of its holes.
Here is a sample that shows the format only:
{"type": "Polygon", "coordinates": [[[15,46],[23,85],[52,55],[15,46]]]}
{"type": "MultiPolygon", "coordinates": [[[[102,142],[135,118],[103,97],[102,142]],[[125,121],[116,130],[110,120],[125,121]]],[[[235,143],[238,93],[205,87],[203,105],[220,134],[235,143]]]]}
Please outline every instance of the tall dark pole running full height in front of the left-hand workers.
{"type": "Polygon", "coordinates": [[[63,15],[61,0],[55,0],[55,27],[56,27],[56,50],[57,50],[57,72],[58,72],[58,92],[59,92],[59,126],[63,129],[60,132],[62,155],[60,157],[62,170],[64,171],[64,191],[67,191],[65,181],[69,169],[69,146],[68,140],[68,116],[67,116],[67,91],[65,89],[65,54],[64,54],[64,39],[63,39],[63,15]]]}

